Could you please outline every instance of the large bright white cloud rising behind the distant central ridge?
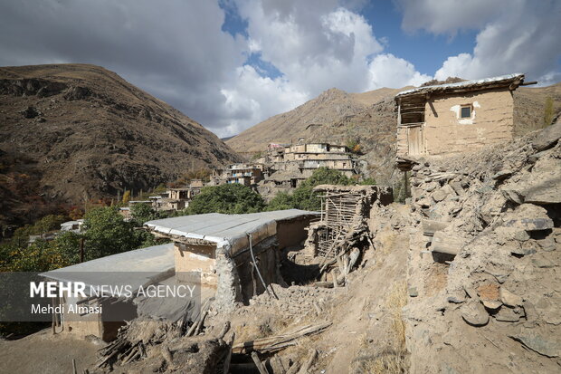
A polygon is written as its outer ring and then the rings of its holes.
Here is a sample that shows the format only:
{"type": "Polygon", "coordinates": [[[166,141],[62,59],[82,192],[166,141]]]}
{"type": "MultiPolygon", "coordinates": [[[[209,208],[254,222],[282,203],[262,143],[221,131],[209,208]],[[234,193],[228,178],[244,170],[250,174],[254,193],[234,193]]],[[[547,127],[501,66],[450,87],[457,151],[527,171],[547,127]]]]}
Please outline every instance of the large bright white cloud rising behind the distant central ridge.
{"type": "Polygon", "coordinates": [[[282,72],[271,80],[244,66],[223,86],[233,120],[228,133],[291,110],[331,87],[366,91],[420,84],[431,77],[384,49],[366,19],[337,1],[239,0],[248,22],[249,50],[282,72]],[[375,57],[378,55],[377,57],[375,57]],[[244,109],[250,109],[246,113],[244,109]]]}

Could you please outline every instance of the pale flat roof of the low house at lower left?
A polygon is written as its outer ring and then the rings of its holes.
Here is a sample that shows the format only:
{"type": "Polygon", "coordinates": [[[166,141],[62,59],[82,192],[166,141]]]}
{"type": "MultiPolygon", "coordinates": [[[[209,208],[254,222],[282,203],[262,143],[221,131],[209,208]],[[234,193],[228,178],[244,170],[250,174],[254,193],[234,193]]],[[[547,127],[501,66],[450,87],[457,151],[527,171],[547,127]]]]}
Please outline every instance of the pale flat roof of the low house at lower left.
{"type": "Polygon", "coordinates": [[[111,254],[39,275],[59,282],[83,282],[93,287],[129,284],[138,288],[151,283],[158,275],[173,271],[175,267],[174,244],[168,243],[111,254]]]}

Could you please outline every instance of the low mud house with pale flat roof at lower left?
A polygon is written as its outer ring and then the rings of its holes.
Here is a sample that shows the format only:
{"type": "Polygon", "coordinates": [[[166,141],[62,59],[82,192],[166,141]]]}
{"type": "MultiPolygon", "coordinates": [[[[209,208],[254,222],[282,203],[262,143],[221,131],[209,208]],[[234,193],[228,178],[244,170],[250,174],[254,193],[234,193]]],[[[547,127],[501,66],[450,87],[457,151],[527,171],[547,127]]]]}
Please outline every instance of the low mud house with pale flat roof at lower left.
{"type": "Polygon", "coordinates": [[[123,297],[122,287],[129,286],[134,294],[141,286],[173,278],[174,269],[174,245],[166,244],[112,254],[41,273],[40,276],[50,281],[81,282],[87,285],[85,298],[64,296],[52,300],[52,305],[62,307],[62,312],[56,312],[52,316],[52,330],[80,337],[94,335],[101,340],[112,340],[117,336],[119,327],[125,321],[137,318],[139,312],[138,304],[123,297]],[[120,287],[120,291],[111,291],[103,296],[89,293],[103,285],[110,285],[114,287],[113,290],[120,287]],[[101,312],[73,312],[78,306],[92,309],[101,307],[101,312]]]}

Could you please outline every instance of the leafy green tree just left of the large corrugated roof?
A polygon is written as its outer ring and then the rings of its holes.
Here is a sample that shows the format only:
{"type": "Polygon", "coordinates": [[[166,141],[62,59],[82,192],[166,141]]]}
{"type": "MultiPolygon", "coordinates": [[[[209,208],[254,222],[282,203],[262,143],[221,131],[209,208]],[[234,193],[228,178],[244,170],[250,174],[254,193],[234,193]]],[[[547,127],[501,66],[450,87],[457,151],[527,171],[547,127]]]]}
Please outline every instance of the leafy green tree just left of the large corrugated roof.
{"type": "Polygon", "coordinates": [[[86,261],[130,251],[139,245],[133,225],[123,221],[119,208],[115,206],[90,210],[84,217],[84,228],[86,261]]]}

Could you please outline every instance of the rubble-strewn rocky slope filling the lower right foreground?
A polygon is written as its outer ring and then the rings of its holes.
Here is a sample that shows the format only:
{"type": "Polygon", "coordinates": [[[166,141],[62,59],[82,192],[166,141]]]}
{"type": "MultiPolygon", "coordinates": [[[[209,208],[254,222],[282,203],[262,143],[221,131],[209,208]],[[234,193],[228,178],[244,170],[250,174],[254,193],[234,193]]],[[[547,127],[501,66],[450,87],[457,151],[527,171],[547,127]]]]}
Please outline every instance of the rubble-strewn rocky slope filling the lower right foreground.
{"type": "Polygon", "coordinates": [[[211,308],[194,336],[133,324],[113,371],[559,372],[560,138],[558,122],[419,159],[410,201],[372,209],[373,246],[343,286],[272,285],[233,312],[211,308]]]}

